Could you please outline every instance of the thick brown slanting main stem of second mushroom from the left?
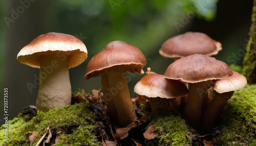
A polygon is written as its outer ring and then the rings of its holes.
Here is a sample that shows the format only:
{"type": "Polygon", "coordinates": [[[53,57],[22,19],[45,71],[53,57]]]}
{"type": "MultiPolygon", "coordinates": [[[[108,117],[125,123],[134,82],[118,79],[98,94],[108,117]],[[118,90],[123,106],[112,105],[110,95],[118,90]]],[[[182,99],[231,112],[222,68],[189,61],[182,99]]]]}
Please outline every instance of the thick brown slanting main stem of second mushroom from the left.
{"type": "Polygon", "coordinates": [[[124,71],[107,71],[110,92],[117,111],[117,124],[125,127],[136,120],[136,113],[130,97],[124,71]]]}

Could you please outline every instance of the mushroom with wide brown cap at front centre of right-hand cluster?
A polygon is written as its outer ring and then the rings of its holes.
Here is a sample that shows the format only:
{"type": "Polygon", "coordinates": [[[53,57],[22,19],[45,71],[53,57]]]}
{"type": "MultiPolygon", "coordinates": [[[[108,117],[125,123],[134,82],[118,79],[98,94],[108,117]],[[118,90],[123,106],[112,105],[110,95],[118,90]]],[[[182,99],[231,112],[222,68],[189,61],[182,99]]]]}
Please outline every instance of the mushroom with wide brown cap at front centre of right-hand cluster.
{"type": "Polygon", "coordinates": [[[183,117],[190,126],[199,131],[203,93],[211,87],[212,80],[223,79],[232,74],[226,63],[213,57],[195,54],[170,64],[164,78],[188,83],[188,101],[183,117]]]}

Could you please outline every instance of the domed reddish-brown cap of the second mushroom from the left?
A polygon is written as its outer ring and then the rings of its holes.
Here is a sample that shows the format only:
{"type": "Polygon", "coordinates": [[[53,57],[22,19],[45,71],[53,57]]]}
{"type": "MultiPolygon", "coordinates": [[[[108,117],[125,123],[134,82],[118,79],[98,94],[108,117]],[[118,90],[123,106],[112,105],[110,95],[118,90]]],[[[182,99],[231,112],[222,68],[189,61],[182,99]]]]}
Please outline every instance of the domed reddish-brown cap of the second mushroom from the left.
{"type": "Polygon", "coordinates": [[[115,69],[120,65],[125,65],[125,72],[144,74],[142,67],[145,64],[146,59],[137,47],[123,41],[112,41],[90,60],[84,78],[102,76],[104,69],[115,69]]]}

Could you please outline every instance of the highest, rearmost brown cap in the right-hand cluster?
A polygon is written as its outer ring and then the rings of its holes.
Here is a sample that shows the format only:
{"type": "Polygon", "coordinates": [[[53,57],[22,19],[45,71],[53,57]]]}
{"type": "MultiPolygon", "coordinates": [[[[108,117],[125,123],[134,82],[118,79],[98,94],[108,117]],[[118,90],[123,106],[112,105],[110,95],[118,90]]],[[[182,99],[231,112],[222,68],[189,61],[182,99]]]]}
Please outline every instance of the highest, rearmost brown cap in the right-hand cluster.
{"type": "Polygon", "coordinates": [[[221,43],[199,32],[186,32],[166,40],[159,54],[167,58],[182,58],[193,54],[212,56],[222,50],[221,43]]]}

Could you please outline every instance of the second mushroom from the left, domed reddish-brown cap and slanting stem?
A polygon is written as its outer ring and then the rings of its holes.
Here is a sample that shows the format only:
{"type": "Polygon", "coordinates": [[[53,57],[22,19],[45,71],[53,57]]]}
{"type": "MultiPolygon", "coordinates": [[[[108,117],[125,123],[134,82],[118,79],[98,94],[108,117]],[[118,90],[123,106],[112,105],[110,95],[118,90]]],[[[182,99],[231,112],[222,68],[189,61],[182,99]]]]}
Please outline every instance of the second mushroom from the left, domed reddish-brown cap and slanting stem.
{"type": "Polygon", "coordinates": [[[145,64],[146,59],[141,51],[123,41],[108,43],[88,63],[85,79],[88,80],[98,76],[101,76],[101,78],[102,76],[107,77],[102,81],[104,99],[108,99],[106,106],[110,110],[112,118],[117,119],[116,122],[119,126],[125,127],[137,118],[125,72],[142,75],[144,74],[142,67],[145,64]],[[115,106],[116,111],[113,106],[115,106]]]}

